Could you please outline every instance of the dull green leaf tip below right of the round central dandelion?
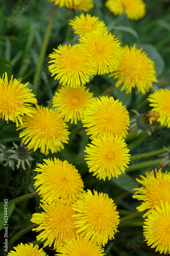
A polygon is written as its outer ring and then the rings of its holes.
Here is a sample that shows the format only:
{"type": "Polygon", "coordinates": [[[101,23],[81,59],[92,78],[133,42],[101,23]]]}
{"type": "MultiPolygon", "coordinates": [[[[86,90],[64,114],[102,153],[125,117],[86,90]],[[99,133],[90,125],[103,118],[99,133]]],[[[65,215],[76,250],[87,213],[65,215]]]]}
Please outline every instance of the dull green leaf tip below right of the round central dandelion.
{"type": "Polygon", "coordinates": [[[138,187],[136,181],[128,174],[121,174],[118,176],[118,178],[112,177],[111,181],[113,181],[116,185],[122,187],[123,189],[129,191],[132,194],[134,193],[132,189],[138,187]]]}

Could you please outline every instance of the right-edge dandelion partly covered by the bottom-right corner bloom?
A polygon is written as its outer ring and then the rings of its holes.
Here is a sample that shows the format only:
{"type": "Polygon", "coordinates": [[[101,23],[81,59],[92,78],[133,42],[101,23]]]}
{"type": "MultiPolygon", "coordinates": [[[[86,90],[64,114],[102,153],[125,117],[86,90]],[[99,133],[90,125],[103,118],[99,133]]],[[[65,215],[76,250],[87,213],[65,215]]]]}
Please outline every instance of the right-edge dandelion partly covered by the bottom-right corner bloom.
{"type": "Polygon", "coordinates": [[[161,169],[157,172],[157,169],[152,170],[152,172],[146,173],[146,177],[140,176],[140,179],[136,179],[137,182],[142,184],[139,188],[134,188],[137,190],[133,195],[133,198],[138,200],[143,200],[140,206],[136,207],[138,211],[148,210],[144,215],[150,214],[152,209],[156,206],[161,206],[160,200],[163,204],[166,202],[170,203],[170,172],[162,173],[161,169]]]}

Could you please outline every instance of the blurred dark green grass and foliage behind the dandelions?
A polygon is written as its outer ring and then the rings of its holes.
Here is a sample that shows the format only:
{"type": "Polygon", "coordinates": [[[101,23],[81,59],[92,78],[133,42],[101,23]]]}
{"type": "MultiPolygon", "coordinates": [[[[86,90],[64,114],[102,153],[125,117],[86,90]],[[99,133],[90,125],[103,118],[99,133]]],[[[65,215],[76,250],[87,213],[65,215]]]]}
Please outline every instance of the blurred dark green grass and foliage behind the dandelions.
{"type": "MultiPolygon", "coordinates": [[[[133,45],[136,43],[138,48],[143,48],[148,53],[149,57],[155,61],[155,69],[157,72],[157,78],[159,82],[154,84],[153,92],[157,88],[169,86],[170,79],[170,3],[169,0],[154,0],[144,1],[146,4],[146,15],[137,21],[127,19],[126,15],[114,16],[105,6],[103,0],[93,0],[94,8],[89,11],[91,15],[99,16],[100,20],[103,20],[108,27],[108,30],[114,34],[122,46],[133,45]]],[[[32,83],[35,74],[35,68],[38,62],[38,56],[45,34],[45,30],[50,19],[51,13],[54,8],[54,3],[49,3],[46,0],[8,0],[2,1],[0,9],[0,55],[6,58],[11,66],[8,65],[6,71],[10,75],[13,74],[14,78],[22,78],[22,82],[30,82],[29,87],[32,88],[32,83]]],[[[74,34],[71,27],[68,25],[68,20],[80,15],[80,11],[69,10],[66,8],[58,8],[50,40],[48,42],[46,55],[44,58],[42,70],[39,81],[39,89],[37,92],[37,100],[39,105],[47,106],[53,97],[53,94],[58,86],[58,80],[54,80],[51,74],[48,72],[48,61],[50,58],[48,55],[53,52],[53,49],[61,44],[77,44],[78,37],[74,34]]],[[[1,66],[1,63],[0,63],[1,66]]],[[[0,70],[0,75],[5,70],[0,70]]],[[[93,92],[94,96],[99,96],[109,86],[113,84],[112,78],[108,78],[108,75],[96,76],[91,79],[90,83],[86,86],[93,92]]],[[[136,109],[139,113],[146,113],[149,110],[149,104],[147,102],[147,95],[141,93],[126,95],[125,92],[120,92],[120,89],[114,89],[109,96],[114,96],[123,102],[127,106],[131,116],[133,116],[132,109],[136,109]]],[[[82,126],[81,122],[76,125],[70,124],[69,130],[74,130],[76,127],[82,126]]],[[[162,146],[169,146],[169,129],[157,130],[159,134],[152,134],[148,137],[146,132],[141,133],[139,136],[132,140],[131,137],[127,137],[127,143],[131,148],[130,154],[141,154],[154,150],[159,150],[162,146]],[[163,131],[163,132],[162,132],[163,131]],[[159,135],[159,136],[158,136],[159,135]]],[[[12,141],[20,145],[20,139],[16,132],[15,124],[2,121],[0,126],[0,143],[7,147],[13,146],[12,141]]],[[[57,157],[62,160],[71,161],[71,159],[83,156],[85,146],[89,142],[88,136],[85,135],[85,131],[72,136],[65,149],[57,154],[51,154],[44,156],[40,154],[40,151],[36,151],[33,154],[35,159],[32,162],[32,169],[35,169],[36,163],[42,162],[44,158],[57,157]]],[[[150,160],[155,161],[157,156],[153,156],[150,160]]],[[[147,170],[151,170],[157,167],[159,164],[147,167],[141,163],[145,160],[136,159],[133,163],[138,163],[135,169],[131,169],[129,176],[125,176],[122,180],[100,181],[88,173],[87,164],[85,161],[75,163],[79,169],[82,179],[85,184],[85,189],[95,189],[99,192],[109,194],[109,197],[113,198],[117,204],[117,210],[120,213],[121,218],[126,218],[128,215],[136,212],[136,206],[139,205],[137,200],[132,199],[132,188],[137,187],[135,178],[144,174],[147,170]],[[132,172],[133,171],[133,172],[132,172]]],[[[170,170],[169,167],[164,167],[164,170],[170,170]]],[[[14,171],[9,166],[3,166],[0,168],[1,175],[1,202],[4,198],[12,200],[15,197],[19,197],[25,194],[24,181],[26,176],[25,170],[19,168],[14,171]]],[[[34,172],[30,174],[29,191],[33,193],[33,177],[34,172]]],[[[0,205],[1,207],[1,205],[0,205]]],[[[12,213],[9,220],[9,239],[11,239],[15,233],[19,232],[23,228],[31,225],[31,216],[34,212],[40,212],[39,198],[30,199],[26,203],[19,203],[15,206],[15,209],[11,207],[10,213],[12,213]],[[13,212],[12,212],[13,211],[13,212]]],[[[110,241],[106,247],[105,252],[107,256],[120,255],[120,256],[142,256],[142,255],[157,255],[159,253],[147,246],[142,237],[142,216],[136,217],[134,220],[124,221],[118,226],[119,233],[116,233],[115,240],[110,241]]],[[[3,240],[2,240],[3,241],[3,240]]],[[[18,243],[36,242],[36,233],[29,232],[24,234],[19,240],[13,241],[11,245],[16,246],[18,243]]],[[[9,248],[11,249],[11,248],[9,248]]],[[[45,248],[48,255],[54,255],[55,251],[45,248]]],[[[3,254],[3,251],[1,253],[3,254]]]]}

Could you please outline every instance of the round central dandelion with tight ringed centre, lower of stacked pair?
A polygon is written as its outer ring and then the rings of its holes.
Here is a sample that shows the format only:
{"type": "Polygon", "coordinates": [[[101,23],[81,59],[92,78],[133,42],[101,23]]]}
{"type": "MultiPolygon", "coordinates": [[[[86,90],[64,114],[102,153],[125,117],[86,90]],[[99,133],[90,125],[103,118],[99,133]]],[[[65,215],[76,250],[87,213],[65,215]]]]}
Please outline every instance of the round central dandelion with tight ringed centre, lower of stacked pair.
{"type": "Polygon", "coordinates": [[[122,137],[113,135],[101,135],[94,138],[89,147],[84,151],[89,172],[94,172],[96,178],[110,180],[111,177],[117,178],[118,175],[125,173],[128,168],[130,155],[127,144],[122,137]],[[126,167],[126,168],[125,168],[126,167]]]}

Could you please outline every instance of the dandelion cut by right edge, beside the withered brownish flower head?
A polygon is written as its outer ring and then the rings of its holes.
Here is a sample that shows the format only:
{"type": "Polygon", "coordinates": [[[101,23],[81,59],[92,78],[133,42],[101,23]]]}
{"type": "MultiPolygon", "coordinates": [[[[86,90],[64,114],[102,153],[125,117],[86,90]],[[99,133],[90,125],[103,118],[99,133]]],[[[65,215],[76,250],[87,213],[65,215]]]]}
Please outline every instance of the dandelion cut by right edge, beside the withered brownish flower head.
{"type": "Polygon", "coordinates": [[[170,127],[170,90],[158,89],[154,93],[150,94],[148,97],[149,102],[151,102],[150,106],[153,107],[152,111],[156,111],[159,113],[159,117],[157,119],[161,125],[167,125],[170,127]]]}

